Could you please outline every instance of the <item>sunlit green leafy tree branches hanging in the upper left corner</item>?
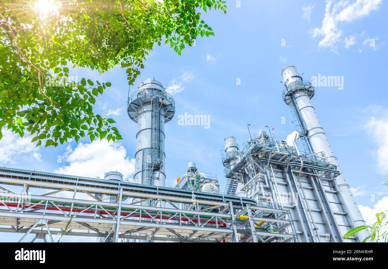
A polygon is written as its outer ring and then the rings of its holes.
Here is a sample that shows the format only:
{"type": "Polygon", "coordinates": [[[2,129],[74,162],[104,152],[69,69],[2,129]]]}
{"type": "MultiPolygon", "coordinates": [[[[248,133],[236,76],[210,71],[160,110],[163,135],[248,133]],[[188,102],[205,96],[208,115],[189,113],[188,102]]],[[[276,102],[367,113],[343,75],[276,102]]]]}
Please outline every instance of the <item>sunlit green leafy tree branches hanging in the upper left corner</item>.
{"type": "Polygon", "coordinates": [[[70,67],[126,69],[133,84],[157,43],[181,55],[198,36],[214,35],[201,11],[224,0],[0,1],[0,139],[3,126],[32,142],[121,139],[113,119],[94,114],[111,83],[71,78],[70,67]]]}

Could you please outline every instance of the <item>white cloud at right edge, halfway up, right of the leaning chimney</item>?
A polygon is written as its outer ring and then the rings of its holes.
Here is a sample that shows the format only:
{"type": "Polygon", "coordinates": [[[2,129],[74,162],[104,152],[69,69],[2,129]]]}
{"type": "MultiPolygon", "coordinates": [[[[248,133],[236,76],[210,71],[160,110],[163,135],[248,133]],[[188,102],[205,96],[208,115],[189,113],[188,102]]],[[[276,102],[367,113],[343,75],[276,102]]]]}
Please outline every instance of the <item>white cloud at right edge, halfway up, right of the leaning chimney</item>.
{"type": "Polygon", "coordinates": [[[365,124],[364,129],[376,142],[376,161],[379,169],[384,172],[388,170],[388,109],[376,105],[369,110],[371,110],[369,113],[375,116],[365,124]]]}

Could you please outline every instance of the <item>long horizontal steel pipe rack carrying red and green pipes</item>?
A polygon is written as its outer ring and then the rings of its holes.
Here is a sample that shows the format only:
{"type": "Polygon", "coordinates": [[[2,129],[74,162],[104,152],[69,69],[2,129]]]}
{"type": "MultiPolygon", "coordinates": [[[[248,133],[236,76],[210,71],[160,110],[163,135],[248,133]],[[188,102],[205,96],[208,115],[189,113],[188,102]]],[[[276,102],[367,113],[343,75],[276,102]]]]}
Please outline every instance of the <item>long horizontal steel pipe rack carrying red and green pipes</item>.
{"type": "MultiPolygon", "coordinates": [[[[0,232],[21,233],[19,241],[35,234],[33,241],[41,238],[51,242],[56,240],[54,235],[64,231],[66,235],[100,237],[105,242],[298,240],[289,210],[257,207],[253,199],[223,196],[219,200],[218,194],[196,191],[189,192],[189,197],[172,188],[162,188],[158,194],[153,193],[154,186],[132,184],[134,191],[125,184],[113,187],[117,181],[102,179],[88,179],[89,184],[77,185],[69,184],[69,177],[1,168],[0,184],[16,185],[21,191],[17,194],[0,186],[4,190],[0,192],[0,232]],[[47,193],[31,195],[30,191],[38,188],[47,189],[47,193]],[[58,197],[63,191],[72,191],[73,198],[58,197]],[[77,192],[93,200],[75,199],[77,192]],[[116,199],[113,203],[102,202],[95,194],[116,199]]],[[[87,180],[82,179],[83,183],[87,180]]]]}

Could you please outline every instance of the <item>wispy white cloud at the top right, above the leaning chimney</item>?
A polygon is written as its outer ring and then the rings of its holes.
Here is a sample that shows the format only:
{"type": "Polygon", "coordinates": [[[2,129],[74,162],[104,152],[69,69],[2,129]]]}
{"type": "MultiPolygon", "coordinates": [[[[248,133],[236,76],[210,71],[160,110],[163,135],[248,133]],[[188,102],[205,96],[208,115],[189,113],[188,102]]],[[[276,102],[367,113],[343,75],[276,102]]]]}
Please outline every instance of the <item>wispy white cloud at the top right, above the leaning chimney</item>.
{"type": "Polygon", "coordinates": [[[331,48],[336,52],[336,44],[341,41],[342,31],[338,28],[341,22],[352,22],[356,19],[368,16],[377,10],[381,0],[341,0],[332,7],[333,0],[326,2],[325,16],[321,28],[312,30],[312,36],[323,36],[318,47],[331,48]]]}

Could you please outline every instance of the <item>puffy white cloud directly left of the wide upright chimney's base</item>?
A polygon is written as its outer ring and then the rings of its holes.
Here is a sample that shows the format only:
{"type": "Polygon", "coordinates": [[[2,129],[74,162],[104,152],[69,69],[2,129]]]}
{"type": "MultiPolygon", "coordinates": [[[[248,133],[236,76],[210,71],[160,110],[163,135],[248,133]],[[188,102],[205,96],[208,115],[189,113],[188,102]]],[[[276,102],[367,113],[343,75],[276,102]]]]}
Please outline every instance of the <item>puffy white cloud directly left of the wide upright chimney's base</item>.
{"type": "Polygon", "coordinates": [[[135,171],[135,159],[126,155],[125,148],[119,143],[94,141],[79,143],[76,148],[68,146],[62,161],[68,164],[55,169],[54,173],[104,178],[105,172],[118,171],[129,179],[135,171]]]}

